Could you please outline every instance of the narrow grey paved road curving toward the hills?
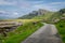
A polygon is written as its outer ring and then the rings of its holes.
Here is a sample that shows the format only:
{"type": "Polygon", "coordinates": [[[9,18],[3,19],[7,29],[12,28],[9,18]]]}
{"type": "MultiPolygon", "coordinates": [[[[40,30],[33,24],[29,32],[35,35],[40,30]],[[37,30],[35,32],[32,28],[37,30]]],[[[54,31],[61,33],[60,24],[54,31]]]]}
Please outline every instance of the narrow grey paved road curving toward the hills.
{"type": "Polygon", "coordinates": [[[62,43],[62,40],[54,25],[44,24],[22,43],[62,43]]]}

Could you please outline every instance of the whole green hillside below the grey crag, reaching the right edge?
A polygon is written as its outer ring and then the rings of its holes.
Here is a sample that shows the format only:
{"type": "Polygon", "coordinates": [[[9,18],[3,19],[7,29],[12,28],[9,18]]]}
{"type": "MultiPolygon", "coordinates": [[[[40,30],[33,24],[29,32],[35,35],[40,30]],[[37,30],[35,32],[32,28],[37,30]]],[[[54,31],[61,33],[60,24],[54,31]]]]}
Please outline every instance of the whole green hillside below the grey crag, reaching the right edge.
{"type": "Polygon", "coordinates": [[[65,9],[57,12],[48,12],[44,15],[35,16],[32,19],[41,19],[46,23],[57,23],[60,19],[65,19],[65,9]]]}

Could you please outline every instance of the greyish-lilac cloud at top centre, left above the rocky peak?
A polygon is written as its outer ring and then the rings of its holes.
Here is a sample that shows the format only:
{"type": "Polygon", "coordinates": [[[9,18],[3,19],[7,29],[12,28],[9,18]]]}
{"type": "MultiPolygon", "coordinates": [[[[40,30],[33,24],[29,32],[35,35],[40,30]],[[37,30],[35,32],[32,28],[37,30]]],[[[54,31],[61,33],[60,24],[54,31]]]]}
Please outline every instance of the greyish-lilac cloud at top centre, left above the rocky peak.
{"type": "Polygon", "coordinates": [[[18,1],[17,5],[22,9],[28,9],[35,4],[41,4],[43,1],[18,1]]]}

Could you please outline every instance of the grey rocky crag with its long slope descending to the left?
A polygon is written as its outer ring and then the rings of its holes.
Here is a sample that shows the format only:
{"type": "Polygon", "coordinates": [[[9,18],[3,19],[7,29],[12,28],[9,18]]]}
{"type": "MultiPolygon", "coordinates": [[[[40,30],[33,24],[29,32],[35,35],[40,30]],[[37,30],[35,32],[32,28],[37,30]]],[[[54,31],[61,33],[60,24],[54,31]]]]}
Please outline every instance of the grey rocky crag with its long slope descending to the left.
{"type": "Polygon", "coordinates": [[[47,13],[49,13],[50,11],[47,11],[47,10],[42,10],[42,9],[39,9],[38,11],[32,11],[31,13],[27,14],[27,15],[24,15],[22,17],[18,17],[20,19],[30,19],[30,18],[34,18],[36,16],[40,16],[40,15],[44,15],[47,13]]]}

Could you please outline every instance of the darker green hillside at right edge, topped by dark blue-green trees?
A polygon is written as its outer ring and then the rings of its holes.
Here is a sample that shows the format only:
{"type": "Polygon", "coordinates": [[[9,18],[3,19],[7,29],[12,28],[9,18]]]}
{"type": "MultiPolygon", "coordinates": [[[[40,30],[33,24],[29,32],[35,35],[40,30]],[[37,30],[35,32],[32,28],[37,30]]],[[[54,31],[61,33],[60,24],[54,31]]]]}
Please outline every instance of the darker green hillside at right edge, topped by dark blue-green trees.
{"type": "Polygon", "coordinates": [[[55,12],[55,13],[50,17],[50,22],[54,22],[54,20],[61,19],[62,17],[65,17],[65,9],[62,9],[62,10],[55,12]]]}

